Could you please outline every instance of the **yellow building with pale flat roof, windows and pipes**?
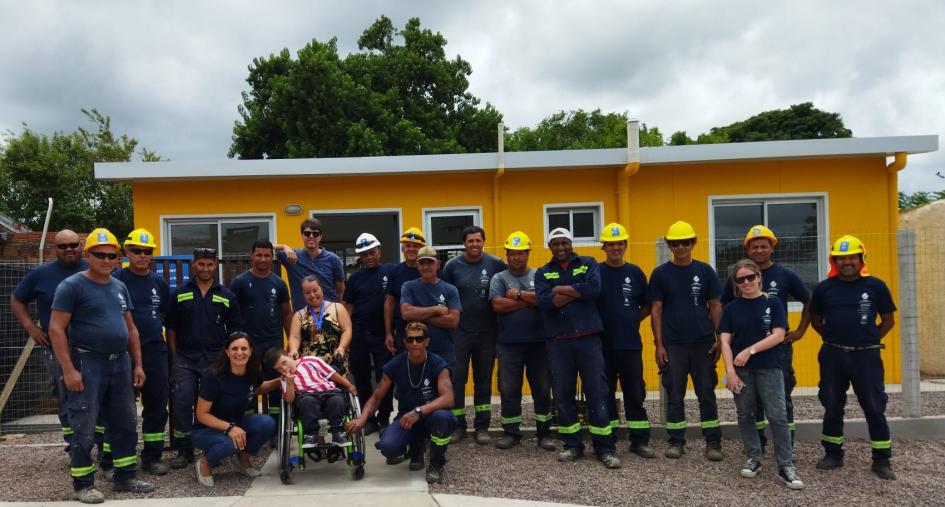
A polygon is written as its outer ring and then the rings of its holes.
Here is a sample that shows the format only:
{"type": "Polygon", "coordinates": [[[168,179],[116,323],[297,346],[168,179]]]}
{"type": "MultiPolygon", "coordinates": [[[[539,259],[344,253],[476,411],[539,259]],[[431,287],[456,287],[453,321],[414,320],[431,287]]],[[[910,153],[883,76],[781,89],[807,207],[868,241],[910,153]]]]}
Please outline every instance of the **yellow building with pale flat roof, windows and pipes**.
{"type": "MultiPolygon", "coordinates": [[[[631,134],[631,146],[637,144],[631,134]]],[[[359,233],[382,242],[397,262],[399,231],[421,227],[438,249],[455,251],[468,224],[485,228],[504,255],[515,230],[542,244],[569,227],[575,250],[603,259],[596,241],[612,221],[630,232],[628,260],[646,273],[668,259],[659,238],[676,220],[698,235],[695,256],[721,274],[743,255],[749,226],[779,236],[775,259],[811,286],[827,272],[830,240],[858,235],[872,274],[897,294],[897,171],[908,154],[935,151],[937,136],[776,141],[659,148],[420,155],[369,158],[99,163],[99,179],[134,188],[137,227],[159,236],[163,254],[216,245],[245,254],[257,238],[299,245],[299,225],[324,223],[323,246],[352,263],[359,233]],[[894,157],[892,162],[888,157],[894,157]]],[[[533,250],[531,264],[550,258],[533,250]]],[[[792,304],[791,322],[799,307],[792,304]]],[[[644,357],[652,357],[649,321],[644,357]]],[[[898,382],[898,332],[886,338],[887,382],[898,382]]],[[[816,385],[813,330],[795,348],[799,385],[816,385]]],[[[721,368],[721,365],[720,365],[721,368]]],[[[657,385],[656,368],[646,380],[657,385]]]]}

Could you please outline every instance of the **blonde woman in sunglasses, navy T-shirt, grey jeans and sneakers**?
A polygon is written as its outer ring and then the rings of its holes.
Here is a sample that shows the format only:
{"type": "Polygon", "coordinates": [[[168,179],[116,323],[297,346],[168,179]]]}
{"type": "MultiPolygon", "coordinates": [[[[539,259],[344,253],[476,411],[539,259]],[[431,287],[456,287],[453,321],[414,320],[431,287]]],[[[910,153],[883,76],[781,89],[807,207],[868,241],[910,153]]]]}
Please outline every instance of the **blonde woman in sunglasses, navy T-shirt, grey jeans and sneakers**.
{"type": "Polygon", "coordinates": [[[725,306],[719,331],[725,360],[725,386],[735,394],[738,428],[748,461],[742,477],[761,470],[761,441],[755,428],[758,400],[764,406],[774,439],[778,476],[787,487],[802,489],[791,446],[785,408],[784,375],[776,347],[784,341],[787,315],[778,298],[761,291],[761,269],[744,259],[735,263],[737,299],[725,306]]]}

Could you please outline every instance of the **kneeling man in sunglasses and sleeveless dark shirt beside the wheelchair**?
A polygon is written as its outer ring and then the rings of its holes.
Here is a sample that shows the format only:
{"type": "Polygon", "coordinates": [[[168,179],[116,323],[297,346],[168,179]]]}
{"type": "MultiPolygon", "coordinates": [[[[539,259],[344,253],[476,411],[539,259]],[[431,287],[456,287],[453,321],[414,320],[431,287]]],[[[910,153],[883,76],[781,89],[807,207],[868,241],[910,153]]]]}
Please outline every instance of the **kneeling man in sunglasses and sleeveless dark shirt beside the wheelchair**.
{"type": "Polygon", "coordinates": [[[348,422],[345,429],[356,433],[377,410],[384,396],[394,389],[398,414],[376,444],[389,464],[398,463],[410,448],[410,469],[423,469],[423,443],[430,437],[430,466],[427,482],[442,482],[446,464],[446,446],[456,419],[453,408],[453,384],[446,360],[427,352],[430,337],[422,322],[407,324],[406,350],[384,365],[384,375],[371,399],[361,409],[361,416],[348,422]]]}

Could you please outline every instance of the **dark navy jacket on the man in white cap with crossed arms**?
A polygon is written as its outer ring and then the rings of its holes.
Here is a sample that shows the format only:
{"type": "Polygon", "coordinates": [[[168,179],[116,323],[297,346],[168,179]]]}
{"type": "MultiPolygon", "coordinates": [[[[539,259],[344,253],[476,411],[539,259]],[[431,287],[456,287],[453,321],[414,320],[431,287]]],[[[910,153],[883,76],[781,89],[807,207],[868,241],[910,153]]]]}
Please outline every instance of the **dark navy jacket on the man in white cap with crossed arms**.
{"type": "Polygon", "coordinates": [[[575,338],[599,333],[604,325],[597,311],[600,267],[593,257],[571,253],[565,266],[552,259],[535,273],[535,294],[541,308],[545,336],[575,338]],[[555,308],[551,290],[558,285],[574,287],[581,297],[555,308]]]}

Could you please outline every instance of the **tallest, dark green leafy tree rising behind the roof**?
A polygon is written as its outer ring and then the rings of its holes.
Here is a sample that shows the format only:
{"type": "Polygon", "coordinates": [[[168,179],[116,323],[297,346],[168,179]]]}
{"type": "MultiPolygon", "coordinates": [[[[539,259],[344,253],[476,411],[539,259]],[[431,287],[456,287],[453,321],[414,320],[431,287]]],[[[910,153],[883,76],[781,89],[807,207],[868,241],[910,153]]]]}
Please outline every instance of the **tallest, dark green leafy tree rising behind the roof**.
{"type": "Polygon", "coordinates": [[[338,55],[336,39],[255,58],[229,156],[341,157],[495,151],[502,115],[469,93],[446,38],[382,16],[338,55]]]}

